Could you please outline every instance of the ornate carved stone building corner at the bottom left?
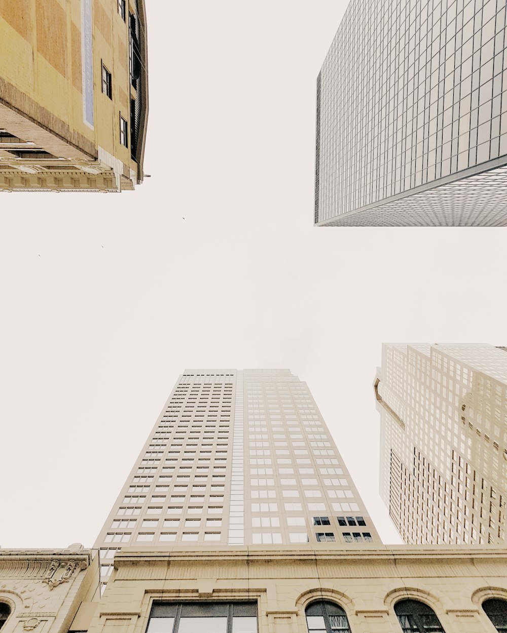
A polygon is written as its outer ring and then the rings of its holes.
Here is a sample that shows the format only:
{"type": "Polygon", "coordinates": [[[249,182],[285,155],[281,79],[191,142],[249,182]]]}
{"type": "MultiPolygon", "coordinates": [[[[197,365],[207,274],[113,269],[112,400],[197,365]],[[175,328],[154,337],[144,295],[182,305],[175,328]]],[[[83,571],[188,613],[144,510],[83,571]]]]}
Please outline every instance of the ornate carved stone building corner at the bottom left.
{"type": "Polygon", "coordinates": [[[0,549],[0,601],[11,613],[2,633],[67,633],[80,603],[98,588],[98,557],[67,549],[0,549]]]}

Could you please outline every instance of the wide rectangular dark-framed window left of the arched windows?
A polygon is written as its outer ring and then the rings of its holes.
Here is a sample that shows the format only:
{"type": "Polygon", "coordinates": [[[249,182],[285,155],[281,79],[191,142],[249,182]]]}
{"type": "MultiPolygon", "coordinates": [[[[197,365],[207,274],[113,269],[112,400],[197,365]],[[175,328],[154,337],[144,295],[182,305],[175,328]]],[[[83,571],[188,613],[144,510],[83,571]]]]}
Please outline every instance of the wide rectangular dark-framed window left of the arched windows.
{"type": "Polygon", "coordinates": [[[146,633],[257,633],[257,603],[155,603],[146,633]]]}

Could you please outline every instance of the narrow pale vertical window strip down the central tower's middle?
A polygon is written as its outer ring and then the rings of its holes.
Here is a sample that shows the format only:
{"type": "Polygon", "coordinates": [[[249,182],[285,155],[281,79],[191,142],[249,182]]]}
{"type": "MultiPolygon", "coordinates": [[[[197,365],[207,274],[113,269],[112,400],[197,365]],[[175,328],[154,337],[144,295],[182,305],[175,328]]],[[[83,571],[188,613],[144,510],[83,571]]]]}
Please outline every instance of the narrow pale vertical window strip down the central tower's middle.
{"type": "Polygon", "coordinates": [[[229,545],[245,544],[245,453],[243,433],[243,370],[236,373],[233,426],[233,475],[229,510],[229,545]]]}

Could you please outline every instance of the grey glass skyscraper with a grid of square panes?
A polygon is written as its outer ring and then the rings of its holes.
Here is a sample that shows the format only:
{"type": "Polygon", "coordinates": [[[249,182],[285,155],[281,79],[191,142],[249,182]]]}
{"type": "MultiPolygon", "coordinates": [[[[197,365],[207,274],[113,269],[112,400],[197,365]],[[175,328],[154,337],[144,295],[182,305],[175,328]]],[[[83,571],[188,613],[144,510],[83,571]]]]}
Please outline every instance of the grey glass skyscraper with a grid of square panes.
{"type": "Polygon", "coordinates": [[[351,0],[317,79],[316,226],[507,225],[503,0],[351,0]]]}

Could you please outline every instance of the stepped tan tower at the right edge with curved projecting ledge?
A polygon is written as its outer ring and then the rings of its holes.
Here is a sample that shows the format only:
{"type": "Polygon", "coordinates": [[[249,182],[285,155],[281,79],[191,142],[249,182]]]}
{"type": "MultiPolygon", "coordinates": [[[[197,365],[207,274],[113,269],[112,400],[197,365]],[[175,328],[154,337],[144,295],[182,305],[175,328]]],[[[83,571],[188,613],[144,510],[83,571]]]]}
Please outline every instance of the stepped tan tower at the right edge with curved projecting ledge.
{"type": "Polygon", "coordinates": [[[505,349],[384,344],[375,396],[380,494],[404,541],[504,544],[505,349]]]}

